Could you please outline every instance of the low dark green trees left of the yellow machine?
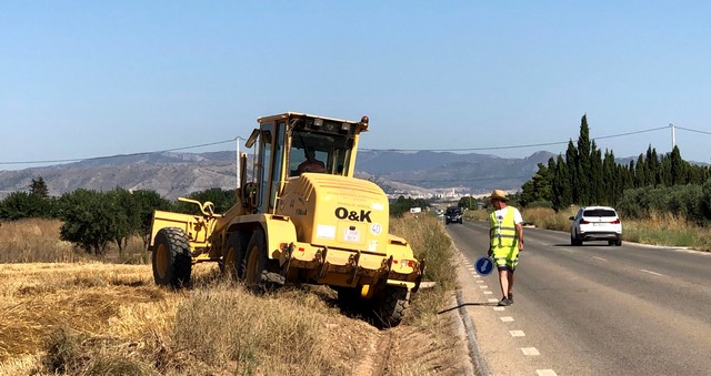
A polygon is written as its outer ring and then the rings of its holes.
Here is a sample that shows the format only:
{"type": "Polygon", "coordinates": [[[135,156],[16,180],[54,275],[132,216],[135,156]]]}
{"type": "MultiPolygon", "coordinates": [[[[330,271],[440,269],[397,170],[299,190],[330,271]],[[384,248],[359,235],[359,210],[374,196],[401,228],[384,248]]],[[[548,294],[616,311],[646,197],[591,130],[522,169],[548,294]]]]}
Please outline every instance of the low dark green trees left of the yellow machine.
{"type": "MultiPolygon", "coordinates": [[[[189,199],[211,201],[216,212],[222,213],[237,202],[234,191],[209,189],[191,193],[189,199]]],[[[71,242],[87,253],[106,254],[109,244],[122,253],[131,236],[148,235],[156,210],[200,214],[196,205],[171,202],[151,190],[112,191],[78,189],[59,197],[49,196],[42,177],[32,179],[29,192],[17,191],[0,201],[0,221],[22,219],[57,219],[62,221],[60,238],[71,242]]]]}

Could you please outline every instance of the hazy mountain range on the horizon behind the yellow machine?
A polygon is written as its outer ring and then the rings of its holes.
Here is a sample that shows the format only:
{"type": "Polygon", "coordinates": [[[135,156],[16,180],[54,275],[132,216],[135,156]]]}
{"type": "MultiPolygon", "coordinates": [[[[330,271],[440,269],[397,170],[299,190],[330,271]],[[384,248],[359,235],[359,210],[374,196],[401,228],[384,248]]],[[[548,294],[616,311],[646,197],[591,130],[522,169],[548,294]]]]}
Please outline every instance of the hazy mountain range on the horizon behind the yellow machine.
{"type": "MultiPolygon", "coordinates": [[[[523,159],[452,152],[360,151],[356,176],[380,185],[391,196],[458,196],[515,191],[555,154],[537,152],[523,159]]],[[[249,166],[248,166],[249,167],[249,166]]],[[[46,167],[0,171],[0,199],[27,191],[42,177],[53,196],[76,189],[152,190],[174,200],[211,187],[233,189],[236,153],[146,153],[84,160],[46,167]]]]}

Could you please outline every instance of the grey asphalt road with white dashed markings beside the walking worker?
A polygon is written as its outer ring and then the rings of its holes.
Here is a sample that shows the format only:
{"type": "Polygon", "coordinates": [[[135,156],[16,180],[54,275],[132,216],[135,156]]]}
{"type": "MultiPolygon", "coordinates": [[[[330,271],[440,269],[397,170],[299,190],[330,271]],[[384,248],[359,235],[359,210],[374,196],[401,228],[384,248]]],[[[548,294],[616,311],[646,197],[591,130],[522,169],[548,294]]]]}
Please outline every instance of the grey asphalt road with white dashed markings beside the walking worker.
{"type": "Polygon", "coordinates": [[[711,254],[525,228],[510,307],[495,271],[471,265],[488,224],[447,226],[460,283],[491,375],[711,375],[711,254]],[[463,280],[462,280],[463,276],[463,280]]]}

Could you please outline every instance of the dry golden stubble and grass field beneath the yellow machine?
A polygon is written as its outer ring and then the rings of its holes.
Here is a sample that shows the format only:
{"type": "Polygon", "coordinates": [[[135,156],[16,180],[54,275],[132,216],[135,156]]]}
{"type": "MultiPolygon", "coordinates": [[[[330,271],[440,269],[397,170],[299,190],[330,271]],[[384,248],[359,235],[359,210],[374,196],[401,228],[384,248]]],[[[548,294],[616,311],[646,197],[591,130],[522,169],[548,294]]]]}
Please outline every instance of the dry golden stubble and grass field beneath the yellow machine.
{"type": "Polygon", "coordinates": [[[380,331],[341,312],[327,287],[253,294],[214,265],[197,265],[193,286],[171,291],[153,284],[150,265],[0,264],[0,294],[2,375],[460,375],[467,367],[453,313],[380,331]]]}

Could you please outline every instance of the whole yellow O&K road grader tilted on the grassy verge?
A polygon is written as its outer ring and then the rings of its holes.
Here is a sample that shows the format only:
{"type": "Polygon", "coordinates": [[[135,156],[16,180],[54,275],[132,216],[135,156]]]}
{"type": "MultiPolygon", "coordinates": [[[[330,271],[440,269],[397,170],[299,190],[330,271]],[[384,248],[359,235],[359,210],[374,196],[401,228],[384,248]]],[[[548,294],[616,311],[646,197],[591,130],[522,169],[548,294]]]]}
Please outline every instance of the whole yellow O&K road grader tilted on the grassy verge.
{"type": "Polygon", "coordinates": [[[179,199],[201,214],[154,212],[156,283],[188,285],[193,264],[217,262],[226,276],[251,286],[328,285],[344,303],[372,309],[381,325],[398,325],[424,261],[389,234],[384,192],[353,177],[368,118],[288,112],[258,123],[246,142],[253,148],[251,166],[247,153],[239,156],[234,206],[218,214],[210,202],[179,199]]]}

